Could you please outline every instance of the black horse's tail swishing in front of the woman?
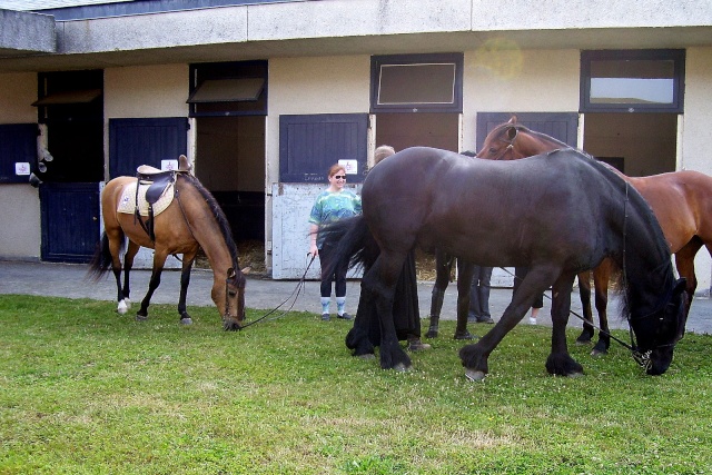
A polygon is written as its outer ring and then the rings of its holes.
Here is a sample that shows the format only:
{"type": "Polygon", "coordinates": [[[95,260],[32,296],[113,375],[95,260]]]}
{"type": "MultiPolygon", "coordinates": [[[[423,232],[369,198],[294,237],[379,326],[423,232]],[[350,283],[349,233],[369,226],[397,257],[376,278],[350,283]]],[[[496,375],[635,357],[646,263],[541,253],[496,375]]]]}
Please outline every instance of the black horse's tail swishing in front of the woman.
{"type": "MultiPolygon", "coordinates": [[[[380,249],[362,215],[326,225],[322,227],[319,232],[326,237],[327,243],[333,243],[336,248],[332,267],[335,267],[337,263],[349,260],[349,267],[362,266],[368,269],[380,254],[380,249]]],[[[324,270],[327,275],[334,273],[334,269],[324,270]]]]}

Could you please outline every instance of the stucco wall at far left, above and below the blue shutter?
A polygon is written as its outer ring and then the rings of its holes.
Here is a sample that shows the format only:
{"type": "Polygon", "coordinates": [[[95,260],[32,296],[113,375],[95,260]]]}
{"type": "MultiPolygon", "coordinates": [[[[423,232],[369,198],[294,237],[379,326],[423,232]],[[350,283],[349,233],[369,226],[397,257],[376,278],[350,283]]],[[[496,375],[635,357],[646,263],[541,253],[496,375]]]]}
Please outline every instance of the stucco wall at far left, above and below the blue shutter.
{"type": "MultiPolygon", "coordinates": [[[[36,123],[37,73],[0,75],[0,123],[36,123]]],[[[39,190],[29,184],[0,185],[0,258],[39,260],[39,190]]]]}

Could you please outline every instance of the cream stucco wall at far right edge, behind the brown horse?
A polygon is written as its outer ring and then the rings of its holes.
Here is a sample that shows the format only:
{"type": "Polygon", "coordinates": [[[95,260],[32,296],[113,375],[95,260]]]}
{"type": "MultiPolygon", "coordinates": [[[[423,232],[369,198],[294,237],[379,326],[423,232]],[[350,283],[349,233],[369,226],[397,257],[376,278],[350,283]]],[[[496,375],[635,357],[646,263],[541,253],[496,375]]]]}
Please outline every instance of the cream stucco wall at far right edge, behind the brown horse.
{"type": "MultiPolygon", "coordinates": [[[[682,118],[681,167],[712,175],[712,48],[689,48],[685,58],[685,111],[682,118]]],[[[709,295],[712,259],[701,249],[695,258],[698,294],[709,295]]]]}

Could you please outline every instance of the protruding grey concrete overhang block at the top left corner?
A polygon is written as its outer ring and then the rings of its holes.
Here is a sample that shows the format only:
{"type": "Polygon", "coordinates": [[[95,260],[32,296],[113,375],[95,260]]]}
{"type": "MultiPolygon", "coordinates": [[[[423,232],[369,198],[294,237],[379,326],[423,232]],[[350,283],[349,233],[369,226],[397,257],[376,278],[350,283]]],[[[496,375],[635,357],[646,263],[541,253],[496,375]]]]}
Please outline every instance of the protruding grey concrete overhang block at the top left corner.
{"type": "Polygon", "coordinates": [[[56,38],[53,17],[0,9],[0,57],[52,53],[56,38]]]}

